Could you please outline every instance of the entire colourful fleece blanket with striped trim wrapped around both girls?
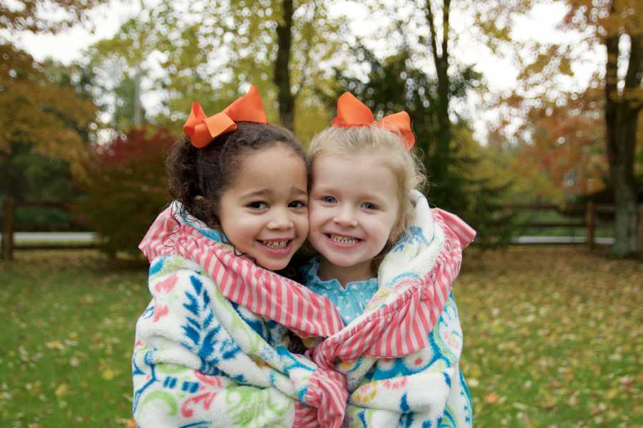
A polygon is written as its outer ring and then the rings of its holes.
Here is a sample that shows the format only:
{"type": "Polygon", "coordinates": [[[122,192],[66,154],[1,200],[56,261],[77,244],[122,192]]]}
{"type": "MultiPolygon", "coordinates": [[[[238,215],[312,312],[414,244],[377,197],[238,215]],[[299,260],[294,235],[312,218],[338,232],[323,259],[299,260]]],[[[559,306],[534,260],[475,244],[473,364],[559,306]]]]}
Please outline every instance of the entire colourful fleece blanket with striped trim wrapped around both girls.
{"type": "Polygon", "coordinates": [[[154,299],[136,325],[139,426],[471,426],[451,290],[474,231],[416,202],[379,291],[346,327],[329,300],[161,213],[141,243],[154,299]],[[285,329],[325,337],[314,363],[286,350],[285,329]]]}

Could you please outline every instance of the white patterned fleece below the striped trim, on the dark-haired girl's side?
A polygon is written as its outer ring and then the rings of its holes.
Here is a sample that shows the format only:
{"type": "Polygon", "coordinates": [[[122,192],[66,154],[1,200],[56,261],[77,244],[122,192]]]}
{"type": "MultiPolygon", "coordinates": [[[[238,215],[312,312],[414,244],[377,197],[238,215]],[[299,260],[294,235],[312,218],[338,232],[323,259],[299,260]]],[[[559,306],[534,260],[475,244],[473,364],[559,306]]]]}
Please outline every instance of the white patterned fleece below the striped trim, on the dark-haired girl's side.
{"type": "Polygon", "coordinates": [[[284,328],[227,300],[199,265],[166,256],[154,269],[132,361],[140,427],[292,427],[314,415],[306,406],[339,426],[341,376],[279,345],[284,328]]]}

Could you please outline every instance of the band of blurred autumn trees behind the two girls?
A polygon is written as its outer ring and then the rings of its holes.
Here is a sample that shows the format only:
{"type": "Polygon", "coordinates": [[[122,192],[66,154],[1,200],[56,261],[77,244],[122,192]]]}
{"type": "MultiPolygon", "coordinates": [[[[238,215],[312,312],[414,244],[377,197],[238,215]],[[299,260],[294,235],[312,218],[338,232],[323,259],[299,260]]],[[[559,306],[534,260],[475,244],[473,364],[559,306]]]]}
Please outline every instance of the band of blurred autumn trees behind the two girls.
{"type": "Polygon", "coordinates": [[[136,207],[145,217],[162,205],[159,160],[191,102],[214,113],[249,83],[269,120],[304,143],[329,124],[343,91],[377,116],[407,110],[429,199],[478,228],[480,243],[509,242],[517,229],[508,203],[601,198],[617,205],[614,251],[637,250],[643,24],[635,0],[144,1],[69,65],[35,61],[21,50],[21,31],[89,26],[105,2],[15,3],[0,7],[0,163],[9,178],[1,198],[79,202],[110,253],[141,237],[126,239],[101,218],[124,222],[139,217],[136,207]],[[47,19],[56,5],[66,14],[47,19]],[[558,30],[574,38],[524,36],[526,16],[547,5],[564,9],[558,30]],[[489,85],[494,70],[475,62],[483,51],[497,69],[516,69],[514,86],[489,85]],[[579,71],[592,64],[582,83],[579,71]],[[137,187],[145,185],[156,190],[137,187]],[[124,217],[108,205],[126,207],[124,217]]]}

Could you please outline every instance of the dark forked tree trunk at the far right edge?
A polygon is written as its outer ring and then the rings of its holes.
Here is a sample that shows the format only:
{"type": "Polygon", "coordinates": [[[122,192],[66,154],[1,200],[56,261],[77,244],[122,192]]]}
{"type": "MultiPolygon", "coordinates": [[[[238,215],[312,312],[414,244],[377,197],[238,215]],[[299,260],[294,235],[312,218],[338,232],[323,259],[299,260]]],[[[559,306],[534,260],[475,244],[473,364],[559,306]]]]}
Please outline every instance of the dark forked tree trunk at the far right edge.
{"type": "Polygon", "coordinates": [[[637,185],[634,180],[634,146],[640,101],[629,96],[640,87],[643,73],[642,37],[631,37],[632,47],[625,77],[624,93],[618,85],[619,35],[607,36],[605,67],[605,128],[609,174],[614,185],[616,219],[614,223],[615,255],[637,251],[637,185]]]}

